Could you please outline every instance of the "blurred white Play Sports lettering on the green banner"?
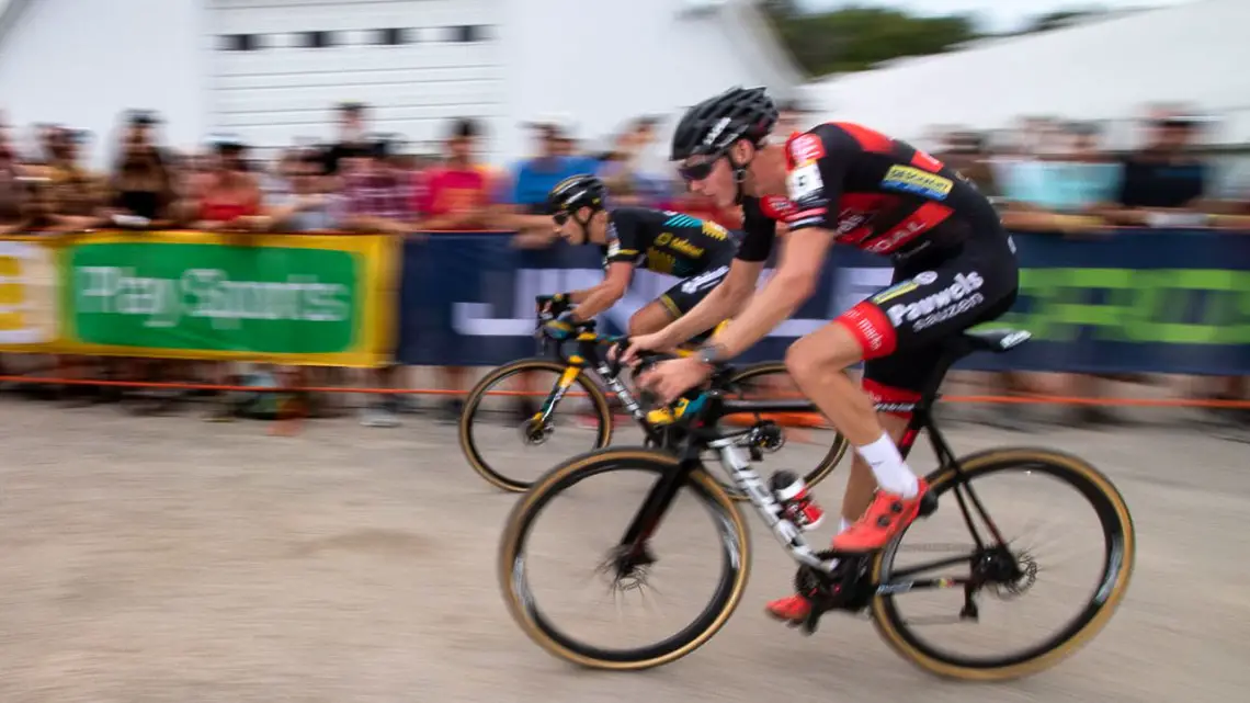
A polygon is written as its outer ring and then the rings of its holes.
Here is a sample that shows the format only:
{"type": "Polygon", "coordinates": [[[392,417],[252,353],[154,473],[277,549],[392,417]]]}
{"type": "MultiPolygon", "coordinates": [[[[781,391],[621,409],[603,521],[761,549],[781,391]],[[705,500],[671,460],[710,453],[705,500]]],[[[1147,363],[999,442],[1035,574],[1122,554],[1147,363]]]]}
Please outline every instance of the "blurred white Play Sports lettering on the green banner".
{"type": "Polygon", "coordinates": [[[315,276],[230,280],[220,269],[188,269],[164,279],[122,266],[78,266],[74,275],[80,314],[140,315],[148,328],[178,326],[184,316],[210,319],[222,330],[238,329],[241,320],[339,323],[350,316],[346,286],[315,276]]]}

